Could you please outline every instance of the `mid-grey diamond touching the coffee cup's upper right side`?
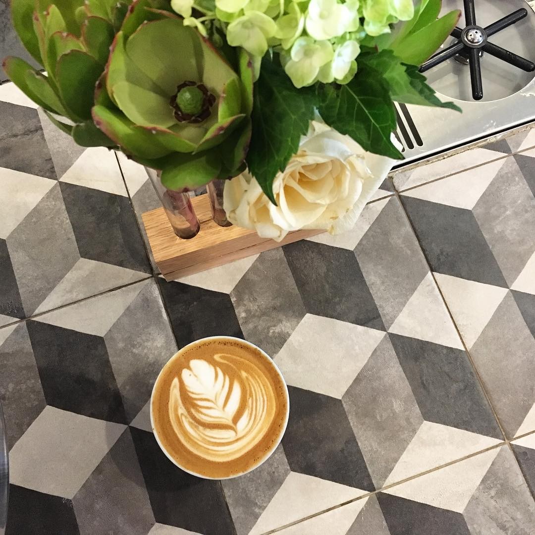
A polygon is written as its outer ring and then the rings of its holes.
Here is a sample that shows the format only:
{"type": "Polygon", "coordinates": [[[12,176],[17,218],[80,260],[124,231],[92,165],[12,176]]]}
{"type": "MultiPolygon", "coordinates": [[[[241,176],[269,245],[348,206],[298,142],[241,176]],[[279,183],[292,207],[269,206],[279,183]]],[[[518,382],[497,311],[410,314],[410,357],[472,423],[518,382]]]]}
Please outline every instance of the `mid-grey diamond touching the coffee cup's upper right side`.
{"type": "Polygon", "coordinates": [[[265,251],[231,293],[244,336],[276,355],[306,314],[282,249],[265,251]]]}

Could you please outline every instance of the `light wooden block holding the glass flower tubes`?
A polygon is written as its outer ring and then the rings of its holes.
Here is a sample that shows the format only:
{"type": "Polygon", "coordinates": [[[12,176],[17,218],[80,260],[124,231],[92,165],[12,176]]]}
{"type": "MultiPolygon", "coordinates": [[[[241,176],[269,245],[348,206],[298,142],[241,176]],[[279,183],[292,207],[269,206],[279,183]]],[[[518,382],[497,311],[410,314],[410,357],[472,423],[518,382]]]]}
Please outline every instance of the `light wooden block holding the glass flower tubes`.
{"type": "Polygon", "coordinates": [[[142,215],[152,255],[166,280],[192,275],[324,232],[295,231],[288,233],[281,242],[276,242],[260,238],[255,231],[246,228],[219,226],[212,219],[210,199],[207,194],[194,197],[191,201],[201,230],[189,240],[175,235],[163,208],[142,215]]]}

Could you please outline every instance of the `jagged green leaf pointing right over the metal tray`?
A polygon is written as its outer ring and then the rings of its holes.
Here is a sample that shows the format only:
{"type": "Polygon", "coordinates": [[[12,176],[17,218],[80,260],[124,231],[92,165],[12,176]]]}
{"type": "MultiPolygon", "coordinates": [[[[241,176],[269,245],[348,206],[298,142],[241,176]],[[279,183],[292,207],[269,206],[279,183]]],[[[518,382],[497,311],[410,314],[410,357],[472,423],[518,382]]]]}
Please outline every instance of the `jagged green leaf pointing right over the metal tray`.
{"type": "Polygon", "coordinates": [[[396,102],[461,111],[453,102],[441,102],[435,91],[427,85],[425,76],[418,72],[418,67],[401,63],[392,50],[366,52],[360,56],[359,62],[383,73],[390,96],[396,102]]]}

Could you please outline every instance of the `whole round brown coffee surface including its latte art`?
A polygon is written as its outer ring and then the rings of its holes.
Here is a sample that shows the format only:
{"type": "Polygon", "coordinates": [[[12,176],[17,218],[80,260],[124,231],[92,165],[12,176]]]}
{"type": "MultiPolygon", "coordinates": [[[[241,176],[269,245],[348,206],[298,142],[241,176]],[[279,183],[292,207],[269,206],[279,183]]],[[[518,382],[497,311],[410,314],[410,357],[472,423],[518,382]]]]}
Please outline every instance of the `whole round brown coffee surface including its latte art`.
{"type": "Polygon", "coordinates": [[[261,464],[288,418],[278,370],[245,342],[195,342],[164,366],[152,394],[154,431],[167,454],[197,475],[226,478],[261,464]]]}

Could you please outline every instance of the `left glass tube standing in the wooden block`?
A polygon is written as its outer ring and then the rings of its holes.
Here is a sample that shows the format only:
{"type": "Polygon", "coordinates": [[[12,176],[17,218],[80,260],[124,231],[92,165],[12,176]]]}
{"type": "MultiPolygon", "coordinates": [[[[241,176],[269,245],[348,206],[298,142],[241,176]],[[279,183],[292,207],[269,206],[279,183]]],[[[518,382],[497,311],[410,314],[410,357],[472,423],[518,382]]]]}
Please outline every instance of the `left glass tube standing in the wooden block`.
{"type": "Polygon", "coordinates": [[[194,238],[201,230],[201,224],[195,215],[189,194],[167,189],[162,184],[159,171],[150,169],[150,167],[145,167],[145,169],[162,202],[174,233],[185,240],[194,238]]]}

